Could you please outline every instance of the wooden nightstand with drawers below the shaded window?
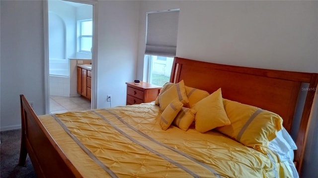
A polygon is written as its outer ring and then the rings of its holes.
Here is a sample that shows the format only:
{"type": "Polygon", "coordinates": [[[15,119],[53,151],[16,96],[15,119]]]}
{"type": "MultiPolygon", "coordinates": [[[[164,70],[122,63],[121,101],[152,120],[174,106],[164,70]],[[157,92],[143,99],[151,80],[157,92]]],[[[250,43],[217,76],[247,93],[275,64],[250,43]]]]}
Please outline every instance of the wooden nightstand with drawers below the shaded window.
{"type": "Polygon", "coordinates": [[[126,104],[140,104],[155,101],[162,87],[140,82],[140,85],[135,85],[134,82],[126,82],[127,84],[127,99],[126,104]]]}

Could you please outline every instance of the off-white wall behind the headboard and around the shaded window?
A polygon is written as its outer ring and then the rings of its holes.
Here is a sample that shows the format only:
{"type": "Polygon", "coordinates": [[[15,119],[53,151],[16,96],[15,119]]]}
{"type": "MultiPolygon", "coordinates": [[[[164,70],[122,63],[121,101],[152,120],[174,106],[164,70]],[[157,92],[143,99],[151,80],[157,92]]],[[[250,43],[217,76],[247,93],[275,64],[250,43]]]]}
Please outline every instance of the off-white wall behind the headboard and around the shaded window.
{"type": "MultiPolygon", "coordinates": [[[[154,0],[141,4],[137,78],[145,80],[146,13],[176,8],[178,57],[318,73],[318,1],[154,0]]],[[[302,178],[318,177],[317,100],[302,178]]]]}

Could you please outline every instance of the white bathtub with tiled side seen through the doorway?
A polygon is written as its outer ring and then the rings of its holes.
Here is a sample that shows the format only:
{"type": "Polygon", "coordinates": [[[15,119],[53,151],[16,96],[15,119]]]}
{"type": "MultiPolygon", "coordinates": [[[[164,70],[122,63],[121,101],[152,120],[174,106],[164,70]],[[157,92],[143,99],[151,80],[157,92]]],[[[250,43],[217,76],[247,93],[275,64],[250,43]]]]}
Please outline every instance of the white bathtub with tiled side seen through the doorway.
{"type": "Polygon", "coordinates": [[[69,59],[49,59],[50,95],[70,96],[69,59]]]}

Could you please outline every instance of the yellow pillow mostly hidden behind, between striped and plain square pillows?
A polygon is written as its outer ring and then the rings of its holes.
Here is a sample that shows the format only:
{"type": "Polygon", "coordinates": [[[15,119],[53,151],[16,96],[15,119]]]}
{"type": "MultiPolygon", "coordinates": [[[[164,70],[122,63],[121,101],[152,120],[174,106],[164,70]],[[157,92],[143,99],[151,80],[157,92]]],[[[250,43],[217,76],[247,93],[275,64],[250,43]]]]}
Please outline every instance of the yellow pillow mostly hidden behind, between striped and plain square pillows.
{"type": "Polygon", "coordinates": [[[210,95],[208,91],[185,86],[189,102],[184,107],[192,108],[195,103],[210,95]]]}

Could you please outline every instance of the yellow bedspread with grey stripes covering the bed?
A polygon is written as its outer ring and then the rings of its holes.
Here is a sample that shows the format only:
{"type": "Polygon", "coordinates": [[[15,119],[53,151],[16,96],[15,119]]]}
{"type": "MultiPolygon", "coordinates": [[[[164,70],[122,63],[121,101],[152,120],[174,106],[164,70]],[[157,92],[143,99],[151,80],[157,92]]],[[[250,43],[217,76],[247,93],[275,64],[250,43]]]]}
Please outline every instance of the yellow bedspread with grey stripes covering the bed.
{"type": "Polygon", "coordinates": [[[153,103],[40,120],[85,178],[291,177],[271,152],[264,155],[218,132],[174,126],[162,131],[153,103]]]}

